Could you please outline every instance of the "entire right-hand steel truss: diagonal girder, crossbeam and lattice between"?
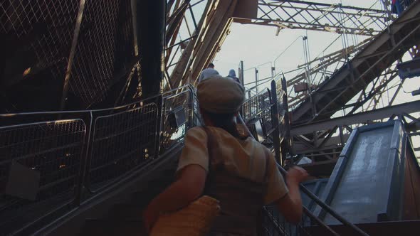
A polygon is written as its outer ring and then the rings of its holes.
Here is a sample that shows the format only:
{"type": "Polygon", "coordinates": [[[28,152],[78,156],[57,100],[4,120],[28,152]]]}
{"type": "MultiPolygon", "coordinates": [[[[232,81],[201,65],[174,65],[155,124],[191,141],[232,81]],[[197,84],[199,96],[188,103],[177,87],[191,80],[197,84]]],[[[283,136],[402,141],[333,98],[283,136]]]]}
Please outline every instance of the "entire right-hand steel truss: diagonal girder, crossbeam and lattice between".
{"type": "Polygon", "coordinates": [[[404,80],[398,77],[397,64],[406,54],[411,58],[419,55],[417,47],[419,26],[415,23],[418,19],[417,14],[419,14],[418,2],[389,26],[388,32],[385,31],[377,36],[376,40],[370,42],[362,52],[346,63],[347,66],[321,84],[312,94],[312,107],[308,98],[293,112],[295,120],[295,126],[291,131],[294,141],[293,153],[310,157],[313,163],[309,168],[313,168],[313,171],[320,171],[320,174],[327,173],[337,157],[334,155],[340,152],[351,129],[360,124],[369,124],[387,117],[390,119],[399,117],[407,131],[412,132],[411,136],[418,133],[419,117],[412,117],[410,113],[419,112],[419,101],[392,106],[404,83],[404,80]],[[386,42],[385,38],[388,45],[382,44],[386,42]],[[342,77],[343,73],[346,74],[345,77],[342,77]],[[335,82],[332,82],[333,80],[335,82]],[[335,85],[326,89],[331,82],[335,85]],[[325,96],[327,102],[322,104],[318,96],[325,96]],[[298,118],[300,109],[305,106],[309,110],[315,109],[315,112],[307,113],[309,119],[298,118]],[[330,117],[337,116],[340,117],[327,121],[330,117]],[[312,128],[307,129],[309,127],[312,128]]]}

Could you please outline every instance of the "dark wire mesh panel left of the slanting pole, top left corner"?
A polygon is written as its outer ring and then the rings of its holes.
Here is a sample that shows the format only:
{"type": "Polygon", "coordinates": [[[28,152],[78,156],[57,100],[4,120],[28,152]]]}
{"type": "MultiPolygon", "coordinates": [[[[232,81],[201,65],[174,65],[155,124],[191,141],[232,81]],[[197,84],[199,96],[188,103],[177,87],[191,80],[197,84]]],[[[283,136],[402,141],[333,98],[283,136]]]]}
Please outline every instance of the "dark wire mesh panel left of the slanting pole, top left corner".
{"type": "Polygon", "coordinates": [[[1,1],[0,49],[8,55],[4,85],[28,68],[63,79],[78,6],[74,0],[1,1]]]}

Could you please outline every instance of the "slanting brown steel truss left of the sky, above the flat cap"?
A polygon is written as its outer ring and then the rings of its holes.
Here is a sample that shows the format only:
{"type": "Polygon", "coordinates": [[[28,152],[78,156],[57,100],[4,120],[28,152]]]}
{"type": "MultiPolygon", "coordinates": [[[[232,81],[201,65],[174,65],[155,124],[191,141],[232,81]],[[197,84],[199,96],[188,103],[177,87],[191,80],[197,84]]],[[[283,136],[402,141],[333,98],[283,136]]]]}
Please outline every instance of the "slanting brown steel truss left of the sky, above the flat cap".
{"type": "MultiPolygon", "coordinates": [[[[174,55],[176,55],[167,62],[166,76],[170,81],[169,86],[179,87],[189,82],[194,83],[201,70],[214,59],[229,33],[231,16],[237,2],[237,0],[207,1],[199,22],[196,22],[196,31],[187,40],[178,42],[179,47],[182,46],[184,49],[182,52],[175,49],[174,55]]],[[[172,46],[169,45],[168,50],[169,48],[172,46]]]]}

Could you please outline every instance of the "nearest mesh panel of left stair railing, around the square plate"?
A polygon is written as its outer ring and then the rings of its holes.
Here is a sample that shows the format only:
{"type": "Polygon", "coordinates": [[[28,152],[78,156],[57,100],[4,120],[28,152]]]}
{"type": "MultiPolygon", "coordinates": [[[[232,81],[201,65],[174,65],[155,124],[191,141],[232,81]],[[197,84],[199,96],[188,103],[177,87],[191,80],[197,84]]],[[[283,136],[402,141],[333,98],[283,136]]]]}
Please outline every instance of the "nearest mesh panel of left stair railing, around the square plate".
{"type": "Polygon", "coordinates": [[[16,219],[21,227],[25,219],[73,198],[85,132],[79,119],[0,127],[0,228],[12,227],[16,219]],[[14,162],[40,174],[36,200],[7,193],[14,162]]]}

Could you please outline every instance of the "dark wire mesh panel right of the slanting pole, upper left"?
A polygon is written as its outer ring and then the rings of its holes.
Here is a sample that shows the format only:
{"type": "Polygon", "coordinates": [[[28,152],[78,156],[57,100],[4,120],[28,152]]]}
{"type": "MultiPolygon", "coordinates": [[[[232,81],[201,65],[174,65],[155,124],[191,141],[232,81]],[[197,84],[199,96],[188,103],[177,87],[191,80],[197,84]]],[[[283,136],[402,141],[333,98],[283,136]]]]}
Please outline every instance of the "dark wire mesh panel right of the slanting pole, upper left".
{"type": "Polygon", "coordinates": [[[86,1],[70,87],[89,107],[105,98],[134,56],[130,1],[86,1]]]}

